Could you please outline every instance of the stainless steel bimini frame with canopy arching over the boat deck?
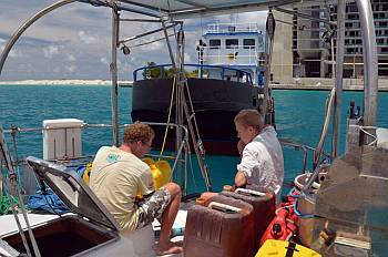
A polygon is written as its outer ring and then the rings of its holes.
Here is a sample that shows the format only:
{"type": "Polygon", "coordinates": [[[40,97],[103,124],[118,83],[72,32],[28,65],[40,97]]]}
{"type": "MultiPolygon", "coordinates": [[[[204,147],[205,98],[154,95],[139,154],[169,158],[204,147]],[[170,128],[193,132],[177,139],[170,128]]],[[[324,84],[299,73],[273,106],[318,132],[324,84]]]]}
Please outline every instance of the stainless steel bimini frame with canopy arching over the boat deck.
{"type": "MultiPolygon", "coordinates": [[[[156,19],[181,19],[195,18],[211,14],[233,13],[235,11],[244,12],[252,10],[265,10],[268,8],[277,8],[287,4],[298,4],[300,0],[288,1],[129,1],[129,0],[61,0],[42,11],[34,14],[25,21],[7,42],[4,50],[0,58],[0,76],[1,71],[7,60],[7,56],[13,44],[20,35],[38,19],[47,13],[55,10],[62,6],[72,2],[85,2],[93,6],[105,6],[112,8],[112,125],[113,125],[113,143],[119,141],[119,122],[118,122],[118,69],[116,69],[116,50],[119,44],[119,14],[118,11],[130,11],[141,13],[156,19]]],[[[303,1],[304,6],[314,1],[303,1]]],[[[372,126],[376,124],[377,110],[377,91],[378,91],[378,64],[376,52],[376,35],[375,24],[372,19],[371,3],[369,0],[357,0],[359,10],[360,24],[363,30],[363,45],[364,45],[364,119],[365,125],[372,126]]],[[[316,2],[314,2],[316,4],[316,2]]],[[[339,110],[341,105],[343,91],[343,63],[344,63],[344,31],[345,31],[345,4],[344,0],[338,0],[337,8],[337,65],[336,65],[336,101],[335,101],[335,116],[334,116],[334,135],[333,135],[333,155],[337,155],[338,145],[338,130],[339,130],[339,110]]]]}

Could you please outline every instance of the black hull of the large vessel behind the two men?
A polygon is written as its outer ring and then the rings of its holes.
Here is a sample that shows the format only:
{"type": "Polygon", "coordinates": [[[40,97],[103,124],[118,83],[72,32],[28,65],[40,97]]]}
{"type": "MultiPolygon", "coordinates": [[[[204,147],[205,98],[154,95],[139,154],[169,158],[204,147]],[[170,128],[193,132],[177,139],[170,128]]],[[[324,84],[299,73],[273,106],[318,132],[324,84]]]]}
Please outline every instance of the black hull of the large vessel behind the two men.
{"type": "MultiPolygon", "coordinates": [[[[132,121],[166,123],[173,83],[173,79],[135,81],[133,84],[132,121]]],[[[233,120],[243,109],[258,110],[261,89],[251,83],[194,78],[187,79],[187,86],[206,153],[238,154],[236,148],[238,138],[233,120]]],[[[185,92],[185,97],[187,102],[187,92],[185,92]]],[[[170,122],[175,123],[175,101],[172,104],[170,122]]],[[[188,102],[187,105],[190,105],[188,102]]],[[[154,130],[156,136],[153,146],[160,148],[165,127],[154,126],[154,130]]],[[[175,130],[169,130],[169,148],[173,145],[174,135],[175,130]]]]}

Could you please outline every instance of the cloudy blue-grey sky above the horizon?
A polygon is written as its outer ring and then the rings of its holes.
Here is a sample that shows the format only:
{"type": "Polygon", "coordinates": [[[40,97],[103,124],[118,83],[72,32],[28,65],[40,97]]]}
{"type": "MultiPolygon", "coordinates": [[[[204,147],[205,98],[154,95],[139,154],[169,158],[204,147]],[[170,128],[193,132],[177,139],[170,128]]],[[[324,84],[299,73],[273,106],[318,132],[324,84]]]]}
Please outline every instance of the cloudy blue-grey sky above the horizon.
{"type": "MultiPolygon", "coordinates": [[[[42,8],[54,0],[1,0],[0,50],[11,34],[42,8]]],[[[124,13],[122,18],[139,16],[124,13]]],[[[207,24],[214,22],[254,22],[264,27],[266,12],[237,13],[213,18],[184,20],[185,62],[195,63],[195,48],[207,24]]],[[[143,17],[144,18],[144,17],[143,17]]],[[[129,38],[160,24],[123,23],[121,38],[129,38]]],[[[160,38],[154,34],[134,43],[160,38]]],[[[131,44],[130,44],[131,45],[131,44]]],[[[175,49],[174,49],[175,50],[175,49]]],[[[132,80],[132,71],[149,61],[170,62],[164,41],[131,49],[130,55],[119,56],[119,79],[132,80]]],[[[0,80],[42,79],[110,79],[111,10],[85,3],[71,3],[41,18],[13,47],[6,61],[0,80]]]]}

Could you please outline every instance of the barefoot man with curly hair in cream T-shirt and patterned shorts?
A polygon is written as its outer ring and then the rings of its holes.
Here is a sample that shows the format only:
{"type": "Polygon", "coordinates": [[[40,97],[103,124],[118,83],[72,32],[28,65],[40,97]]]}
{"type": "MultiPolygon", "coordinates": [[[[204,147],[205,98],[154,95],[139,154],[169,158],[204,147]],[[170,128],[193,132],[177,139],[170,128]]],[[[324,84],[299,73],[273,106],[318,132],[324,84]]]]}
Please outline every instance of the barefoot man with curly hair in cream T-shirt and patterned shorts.
{"type": "Polygon", "coordinates": [[[95,155],[90,187],[106,206],[122,232],[131,232],[160,219],[162,228],[157,255],[177,254],[182,247],[170,240],[181,203],[181,188],[167,183],[154,191],[151,169],[140,157],[149,153],[154,131],[136,122],[124,131],[120,147],[102,146],[95,155]],[[143,196],[137,204],[136,196],[143,196]]]}

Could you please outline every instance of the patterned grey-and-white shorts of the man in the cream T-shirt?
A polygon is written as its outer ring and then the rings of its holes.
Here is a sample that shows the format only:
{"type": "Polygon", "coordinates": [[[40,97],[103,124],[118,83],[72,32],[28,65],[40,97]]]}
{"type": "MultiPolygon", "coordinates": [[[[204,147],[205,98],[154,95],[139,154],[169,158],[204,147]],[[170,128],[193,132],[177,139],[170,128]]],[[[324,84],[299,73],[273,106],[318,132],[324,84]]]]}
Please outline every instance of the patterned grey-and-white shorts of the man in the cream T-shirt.
{"type": "MultiPolygon", "coordinates": [[[[145,227],[151,224],[154,218],[162,217],[164,209],[171,202],[170,192],[161,187],[150,198],[139,207],[139,223],[137,228],[145,227]]],[[[136,229],[137,229],[136,228],[136,229]]]]}

